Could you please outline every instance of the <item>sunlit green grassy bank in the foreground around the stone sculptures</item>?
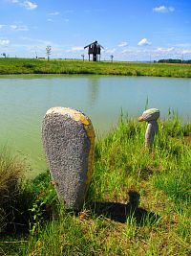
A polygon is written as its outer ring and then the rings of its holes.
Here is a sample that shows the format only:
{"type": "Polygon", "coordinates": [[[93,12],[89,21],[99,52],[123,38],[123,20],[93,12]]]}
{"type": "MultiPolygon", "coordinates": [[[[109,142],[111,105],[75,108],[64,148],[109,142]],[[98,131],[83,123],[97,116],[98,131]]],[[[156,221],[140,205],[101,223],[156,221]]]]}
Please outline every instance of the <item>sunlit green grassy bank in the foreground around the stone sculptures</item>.
{"type": "Polygon", "coordinates": [[[48,173],[23,185],[14,232],[2,227],[0,254],[190,255],[191,124],[160,121],[152,151],[144,149],[144,132],[144,124],[120,120],[96,141],[93,180],[78,214],[60,205],[48,173]]]}

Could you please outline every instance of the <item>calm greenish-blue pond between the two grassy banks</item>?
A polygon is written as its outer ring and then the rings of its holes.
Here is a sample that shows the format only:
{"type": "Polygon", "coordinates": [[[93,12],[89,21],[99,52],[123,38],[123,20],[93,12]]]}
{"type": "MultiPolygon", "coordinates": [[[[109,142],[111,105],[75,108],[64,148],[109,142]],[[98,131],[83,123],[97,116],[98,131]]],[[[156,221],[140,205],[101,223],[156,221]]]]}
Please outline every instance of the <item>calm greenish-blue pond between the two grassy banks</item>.
{"type": "Polygon", "coordinates": [[[148,107],[169,108],[191,120],[191,79],[116,76],[1,76],[0,143],[27,159],[29,176],[46,170],[41,123],[52,106],[87,114],[101,136],[117,125],[121,109],[137,118],[148,107]]]}

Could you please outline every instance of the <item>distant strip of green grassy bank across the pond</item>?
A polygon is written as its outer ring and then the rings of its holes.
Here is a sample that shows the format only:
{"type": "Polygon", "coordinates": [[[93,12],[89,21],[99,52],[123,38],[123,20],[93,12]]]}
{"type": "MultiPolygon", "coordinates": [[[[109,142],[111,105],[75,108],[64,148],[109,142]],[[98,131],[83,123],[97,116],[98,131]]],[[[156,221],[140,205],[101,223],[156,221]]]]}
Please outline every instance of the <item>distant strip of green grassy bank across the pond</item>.
{"type": "Polygon", "coordinates": [[[0,58],[0,75],[11,74],[95,74],[191,78],[191,65],[0,58]]]}

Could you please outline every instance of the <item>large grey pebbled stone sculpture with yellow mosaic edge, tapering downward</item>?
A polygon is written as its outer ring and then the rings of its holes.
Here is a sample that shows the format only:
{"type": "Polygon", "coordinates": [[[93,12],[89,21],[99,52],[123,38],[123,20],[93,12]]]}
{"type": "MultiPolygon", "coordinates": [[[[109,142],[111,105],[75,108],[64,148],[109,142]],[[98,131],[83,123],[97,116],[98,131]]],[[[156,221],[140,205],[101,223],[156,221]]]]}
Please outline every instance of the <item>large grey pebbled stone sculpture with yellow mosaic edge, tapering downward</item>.
{"type": "Polygon", "coordinates": [[[50,108],[42,124],[42,140],[58,198],[79,210],[92,177],[95,131],[82,112],[50,108]]]}

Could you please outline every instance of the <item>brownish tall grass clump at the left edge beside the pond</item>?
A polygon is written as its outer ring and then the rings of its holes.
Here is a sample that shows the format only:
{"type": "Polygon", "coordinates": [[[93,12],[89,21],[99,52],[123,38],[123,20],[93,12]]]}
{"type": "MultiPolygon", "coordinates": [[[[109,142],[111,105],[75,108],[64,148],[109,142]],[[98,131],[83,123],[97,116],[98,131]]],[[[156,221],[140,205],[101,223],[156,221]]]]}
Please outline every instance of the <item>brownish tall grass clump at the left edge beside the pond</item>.
{"type": "MultiPolygon", "coordinates": [[[[20,197],[20,179],[25,165],[4,148],[0,151],[0,232],[8,225],[15,226],[18,216],[17,204],[20,197]]],[[[21,214],[21,213],[19,213],[21,214]]]]}

